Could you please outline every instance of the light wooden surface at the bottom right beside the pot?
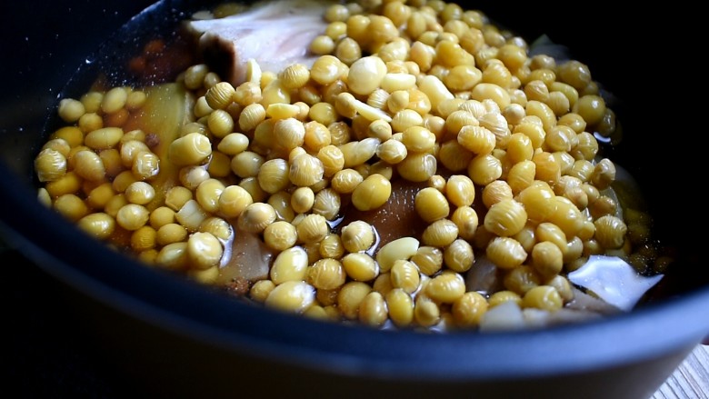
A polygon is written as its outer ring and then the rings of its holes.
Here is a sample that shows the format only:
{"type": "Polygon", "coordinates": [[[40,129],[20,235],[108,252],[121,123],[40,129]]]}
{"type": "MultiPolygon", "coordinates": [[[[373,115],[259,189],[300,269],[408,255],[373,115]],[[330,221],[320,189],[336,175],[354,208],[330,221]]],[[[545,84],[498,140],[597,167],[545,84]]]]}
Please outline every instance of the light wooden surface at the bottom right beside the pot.
{"type": "Polygon", "coordinates": [[[709,346],[698,345],[650,399],[709,398],[709,346]]]}

